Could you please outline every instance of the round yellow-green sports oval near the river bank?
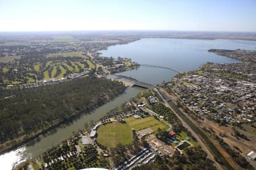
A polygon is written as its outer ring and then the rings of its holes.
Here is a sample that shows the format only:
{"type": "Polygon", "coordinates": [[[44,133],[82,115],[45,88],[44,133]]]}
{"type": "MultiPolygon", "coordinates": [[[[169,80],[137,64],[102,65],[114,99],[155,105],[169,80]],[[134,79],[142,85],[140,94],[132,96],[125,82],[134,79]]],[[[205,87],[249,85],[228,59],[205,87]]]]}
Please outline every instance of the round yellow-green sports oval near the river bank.
{"type": "Polygon", "coordinates": [[[127,145],[133,139],[133,131],[128,124],[112,122],[102,125],[97,130],[97,142],[108,148],[117,146],[118,143],[127,145]]]}

